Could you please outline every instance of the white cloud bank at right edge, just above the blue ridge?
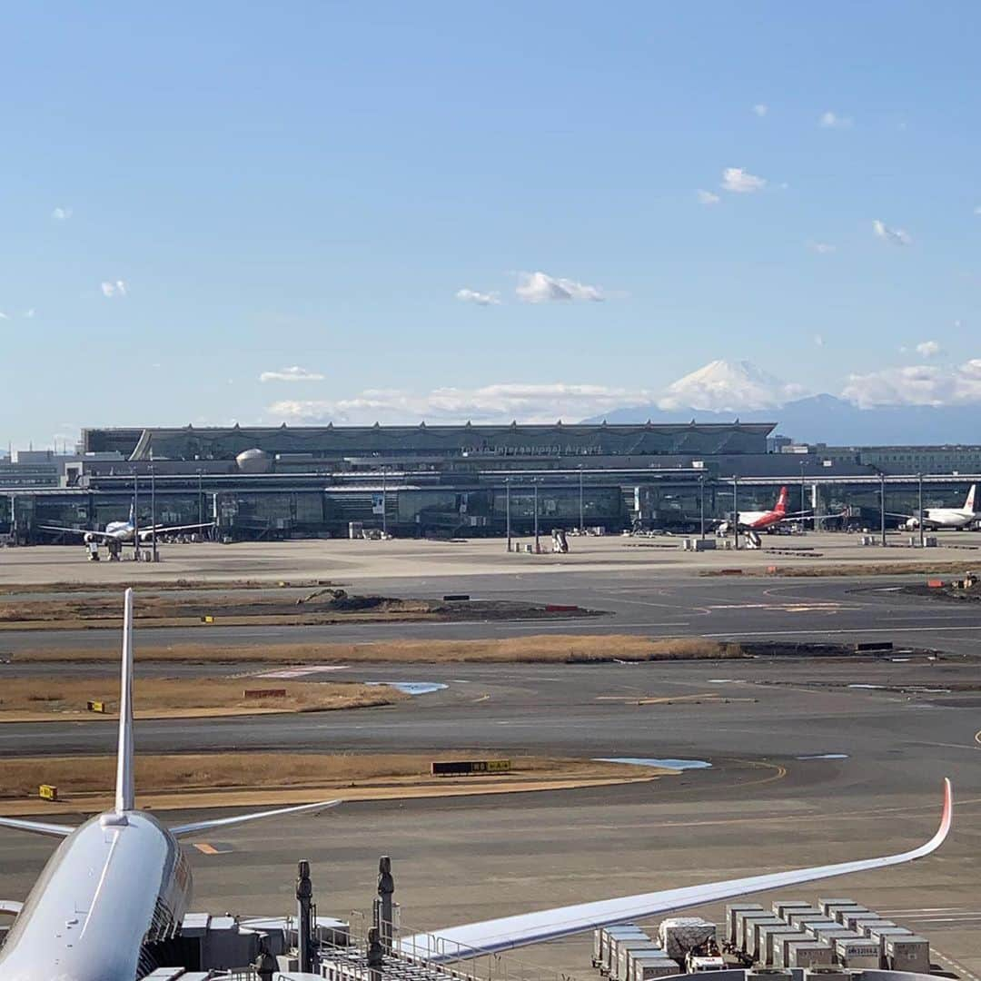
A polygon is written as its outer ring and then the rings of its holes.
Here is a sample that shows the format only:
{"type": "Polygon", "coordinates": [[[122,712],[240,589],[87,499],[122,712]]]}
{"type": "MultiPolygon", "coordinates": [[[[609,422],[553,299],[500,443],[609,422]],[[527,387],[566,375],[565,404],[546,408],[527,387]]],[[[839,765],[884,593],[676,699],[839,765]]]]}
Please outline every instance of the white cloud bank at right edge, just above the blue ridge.
{"type": "Polygon", "coordinates": [[[981,402],[981,358],[952,368],[910,365],[850,375],[842,395],[863,409],[881,405],[972,405],[981,402]]]}

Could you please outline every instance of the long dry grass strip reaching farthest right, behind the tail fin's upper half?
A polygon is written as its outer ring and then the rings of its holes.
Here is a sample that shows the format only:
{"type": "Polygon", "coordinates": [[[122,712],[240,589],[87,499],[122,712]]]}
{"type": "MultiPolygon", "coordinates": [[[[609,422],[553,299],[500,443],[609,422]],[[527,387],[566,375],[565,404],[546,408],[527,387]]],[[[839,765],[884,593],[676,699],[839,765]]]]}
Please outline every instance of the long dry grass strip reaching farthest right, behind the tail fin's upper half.
{"type": "MultiPolygon", "coordinates": [[[[114,661],[113,650],[38,647],[18,651],[16,661],[114,661]]],[[[579,635],[536,635],[487,641],[386,641],[378,644],[271,644],[232,647],[228,645],[177,644],[140,645],[143,660],[189,661],[195,663],[286,663],[286,664],[451,664],[451,663],[545,663],[581,664],[611,660],[719,660],[745,657],[738,644],[725,644],[700,637],[650,638],[632,634],[604,637],[579,635]]],[[[280,688],[282,685],[276,683],[280,688]]],[[[89,696],[91,697],[91,696],[89,696]]]]}

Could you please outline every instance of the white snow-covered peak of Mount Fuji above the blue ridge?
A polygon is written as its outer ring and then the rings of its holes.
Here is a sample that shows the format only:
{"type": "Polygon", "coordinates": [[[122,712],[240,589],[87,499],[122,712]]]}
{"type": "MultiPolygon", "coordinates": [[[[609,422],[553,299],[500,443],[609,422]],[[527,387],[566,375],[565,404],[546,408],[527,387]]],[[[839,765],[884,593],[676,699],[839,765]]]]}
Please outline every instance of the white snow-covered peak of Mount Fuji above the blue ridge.
{"type": "Polygon", "coordinates": [[[716,360],[672,382],[657,406],[665,411],[768,409],[804,394],[803,386],[782,382],[749,361],[716,360]]]}

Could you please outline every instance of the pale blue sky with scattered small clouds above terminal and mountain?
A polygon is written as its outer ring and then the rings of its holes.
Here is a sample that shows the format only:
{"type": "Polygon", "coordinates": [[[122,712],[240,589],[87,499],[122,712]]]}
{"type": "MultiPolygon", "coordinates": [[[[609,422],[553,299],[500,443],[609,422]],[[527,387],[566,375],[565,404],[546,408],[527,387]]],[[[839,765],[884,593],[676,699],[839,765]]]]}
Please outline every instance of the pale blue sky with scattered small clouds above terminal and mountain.
{"type": "Polygon", "coordinates": [[[7,11],[4,442],[981,401],[981,8],[282,8],[7,11]]]}

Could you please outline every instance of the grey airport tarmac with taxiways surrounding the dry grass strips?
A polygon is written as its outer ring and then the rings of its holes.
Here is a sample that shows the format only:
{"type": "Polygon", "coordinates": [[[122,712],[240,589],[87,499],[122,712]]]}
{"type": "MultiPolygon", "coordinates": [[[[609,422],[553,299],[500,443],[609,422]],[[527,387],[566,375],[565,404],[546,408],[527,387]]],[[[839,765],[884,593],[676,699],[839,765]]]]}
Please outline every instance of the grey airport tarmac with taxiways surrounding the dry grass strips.
{"type": "MultiPolygon", "coordinates": [[[[956,535],[955,541],[966,544],[971,537],[956,535]]],[[[300,544],[305,551],[332,543],[300,544]]],[[[340,543],[334,544],[339,552],[340,543]]],[[[392,544],[344,543],[362,551],[392,544]]],[[[905,645],[915,645],[977,654],[979,616],[973,604],[900,592],[910,578],[922,581],[922,576],[702,578],[697,568],[684,564],[687,553],[674,553],[661,564],[659,550],[656,560],[644,561],[634,555],[653,549],[628,551],[626,546],[622,562],[614,561],[619,556],[614,548],[603,550],[604,557],[594,564],[574,568],[537,564],[553,557],[494,557],[489,551],[476,570],[472,556],[464,557],[457,570],[445,568],[444,558],[436,563],[425,559],[429,544],[421,544],[421,558],[410,557],[409,544],[404,545],[404,556],[400,553],[396,563],[398,575],[392,574],[389,560],[381,560],[377,575],[346,574],[344,582],[351,585],[344,588],[358,589],[371,580],[375,592],[436,595],[450,592],[451,584],[454,593],[525,598],[534,593],[548,601],[582,601],[609,613],[548,625],[563,633],[831,638],[848,643],[870,638],[893,640],[897,649],[878,660],[359,666],[331,672],[330,677],[431,681],[447,687],[411,703],[342,714],[141,722],[136,740],[145,751],[397,748],[437,753],[452,746],[512,755],[711,763],[708,769],[652,784],[506,797],[353,801],[313,820],[243,826],[205,843],[217,853],[191,850],[195,908],[243,914],[291,911],[295,861],[301,857],[313,863],[320,912],[347,917],[350,910],[370,909],[378,856],[390,854],[402,923],[414,930],[896,852],[933,833],[941,778],[950,775],[955,823],[940,852],[911,864],[812,884],[795,890],[793,898],[851,896],[928,936],[942,966],[968,981],[981,976],[976,939],[981,926],[981,663],[971,656],[937,662],[904,653],[905,645]]],[[[481,547],[488,544],[480,542],[481,547]]],[[[490,544],[502,547],[501,542],[490,544]]],[[[575,548],[577,540],[572,544],[575,548]]],[[[203,546],[174,546],[173,551],[197,547],[203,546]]],[[[265,547],[254,550],[255,561],[267,554],[265,547]]],[[[23,549],[18,555],[31,553],[29,565],[33,553],[54,551],[58,549],[23,549]]],[[[110,568],[118,574],[115,564],[99,563],[92,569],[78,553],[72,550],[73,561],[86,576],[103,575],[110,568]]],[[[861,550],[862,556],[867,553],[861,550]]],[[[2,556],[5,563],[9,554],[2,556]]],[[[970,568],[971,553],[963,554],[965,568],[970,568]]],[[[178,560],[168,550],[160,567],[150,567],[153,578],[159,578],[162,567],[172,568],[172,562],[178,560]]],[[[283,576],[281,560],[277,563],[272,575],[283,576]]],[[[8,582],[26,582],[26,565],[12,573],[5,564],[3,575],[8,582]]],[[[298,560],[294,578],[303,573],[302,565],[298,560]]],[[[144,567],[136,568],[142,574],[144,567]]],[[[68,578],[64,566],[58,566],[54,579],[68,578]]],[[[295,629],[302,631],[296,639],[303,643],[353,637],[367,642],[535,633],[542,632],[542,624],[295,629]]],[[[279,643],[283,633],[276,632],[279,643]]],[[[166,638],[148,639],[141,631],[137,646],[180,643],[180,634],[170,630],[166,638]]],[[[220,625],[187,634],[195,642],[221,638],[223,645],[230,639],[263,644],[271,636],[263,629],[223,630],[220,625]]],[[[48,635],[45,644],[56,638],[62,643],[65,635],[48,635]]],[[[36,644],[36,635],[31,641],[36,644]]],[[[5,633],[0,650],[16,652],[21,643],[18,635],[5,633]]],[[[117,635],[79,632],[72,643],[106,645],[112,657],[117,635]]],[[[24,671],[16,665],[4,670],[14,668],[24,671]]],[[[214,673],[213,667],[146,662],[141,669],[214,673]]],[[[255,663],[223,668],[249,676],[282,669],[282,664],[255,663]]],[[[86,672],[109,671],[112,665],[107,661],[71,670],[83,679],[86,672]]],[[[113,726],[102,722],[9,725],[0,729],[0,752],[35,753],[42,767],[46,753],[109,752],[114,739],[113,726]]],[[[167,819],[181,816],[168,813],[167,819]]],[[[49,842],[0,832],[3,898],[23,899],[50,852],[49,842]]],[[[693,912],[721,920],[718,905],[693,912]]],[[[586,978],[592,973],[590,946],[591,939],[584,937],[518,951],[508,959],[586,978]]]]}

